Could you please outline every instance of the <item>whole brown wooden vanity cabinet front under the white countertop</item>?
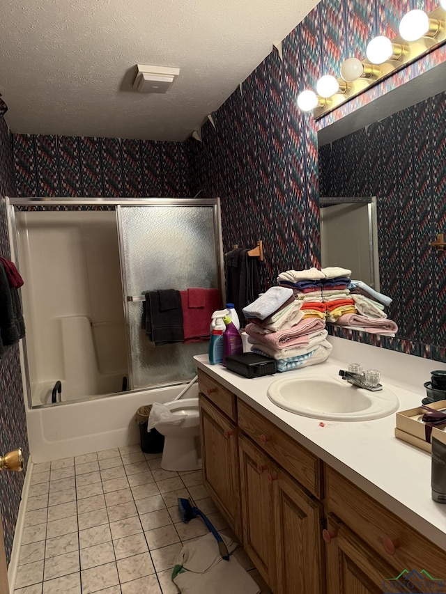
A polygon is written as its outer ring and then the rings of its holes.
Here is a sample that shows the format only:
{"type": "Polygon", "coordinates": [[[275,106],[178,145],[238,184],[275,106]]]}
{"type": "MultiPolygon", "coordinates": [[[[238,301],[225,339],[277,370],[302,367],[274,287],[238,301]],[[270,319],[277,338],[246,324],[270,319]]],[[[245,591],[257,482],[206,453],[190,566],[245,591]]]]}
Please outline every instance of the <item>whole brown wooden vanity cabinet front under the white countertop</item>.
{"type": "Polygon", "coordinates": [[[216,400],[200,396],[205,484],[275,594],[382,594],[403,570],[446,579],[445,550],[217,386],[206,376],[216,400]]]}

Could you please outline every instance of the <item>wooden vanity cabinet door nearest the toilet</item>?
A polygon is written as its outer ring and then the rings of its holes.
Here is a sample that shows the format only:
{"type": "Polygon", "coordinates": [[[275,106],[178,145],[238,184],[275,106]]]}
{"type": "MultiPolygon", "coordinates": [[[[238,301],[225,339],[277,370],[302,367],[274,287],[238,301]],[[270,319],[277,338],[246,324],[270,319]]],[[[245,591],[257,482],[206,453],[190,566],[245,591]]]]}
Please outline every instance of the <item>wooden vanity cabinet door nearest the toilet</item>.
{"type": "Polygon", "coordinates": [[[199,405],[203,483],[240,538],[238,428],[203,396],[199,405]]]}

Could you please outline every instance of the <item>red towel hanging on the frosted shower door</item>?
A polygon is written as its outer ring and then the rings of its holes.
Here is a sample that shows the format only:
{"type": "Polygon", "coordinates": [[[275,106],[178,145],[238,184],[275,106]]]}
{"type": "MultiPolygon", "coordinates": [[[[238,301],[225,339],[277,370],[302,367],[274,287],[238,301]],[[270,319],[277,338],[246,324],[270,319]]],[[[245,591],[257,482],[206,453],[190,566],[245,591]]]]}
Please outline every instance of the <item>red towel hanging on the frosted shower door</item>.
{"type": "MultiPolygon", "coordinates": [[[[203,296],[204,306],[190,306],[190,289],[180,291],[183,308],[183,331],[185,343],[209,340],[209,327],[214,311],[222,309],[222,296],[218,289],[194,289],[203,296]]],[[[192,299],[192,303],[197,301],[192,299]]]]}

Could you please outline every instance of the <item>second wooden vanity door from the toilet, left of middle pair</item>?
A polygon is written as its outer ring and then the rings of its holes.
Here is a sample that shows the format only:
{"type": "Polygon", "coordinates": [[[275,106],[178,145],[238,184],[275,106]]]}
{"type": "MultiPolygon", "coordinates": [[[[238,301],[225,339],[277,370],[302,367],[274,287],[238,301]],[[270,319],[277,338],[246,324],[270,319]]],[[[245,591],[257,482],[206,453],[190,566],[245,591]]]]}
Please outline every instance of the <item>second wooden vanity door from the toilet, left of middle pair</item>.
{"type": "Polygon", "coordinates": [[[243,545],[268,586],[275,589],[275,542],[272,462],[240,434],[240,492],[243,545]]]}

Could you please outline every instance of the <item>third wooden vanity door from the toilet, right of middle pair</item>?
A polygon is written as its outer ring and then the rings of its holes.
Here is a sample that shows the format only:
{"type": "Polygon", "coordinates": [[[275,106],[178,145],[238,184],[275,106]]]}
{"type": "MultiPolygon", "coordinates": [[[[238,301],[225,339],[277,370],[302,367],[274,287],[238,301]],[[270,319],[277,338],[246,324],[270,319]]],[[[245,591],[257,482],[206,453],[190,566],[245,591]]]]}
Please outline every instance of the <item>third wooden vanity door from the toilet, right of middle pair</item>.
{"type": "Polygon", "coordinates": [[[325,591],[322,505],[281,469],[277,468],[272,476],[275,478],[275,594],[321,594],[325,591]]]}

